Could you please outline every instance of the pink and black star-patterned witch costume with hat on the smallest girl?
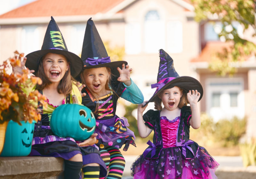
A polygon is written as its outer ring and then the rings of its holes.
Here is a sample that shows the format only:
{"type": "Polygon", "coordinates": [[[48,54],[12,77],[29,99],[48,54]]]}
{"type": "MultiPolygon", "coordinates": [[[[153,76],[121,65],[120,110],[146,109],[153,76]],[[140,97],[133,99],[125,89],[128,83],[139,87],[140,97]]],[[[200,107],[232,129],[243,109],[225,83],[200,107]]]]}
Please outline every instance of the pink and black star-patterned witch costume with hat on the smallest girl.
{"type": "MultiPolygon", "coordinates": [[[[179,77],[173,67],[172,58],[162,49],[160,50],[157,77],[157,83],[152,85],[152,88],[157,87],[157,89],[149,102],[152,102],[161,90],[174,86],[186,91],[197,89],[201,93],[201,97],[203,96],[200,82],[191,77],[179,77]],[[190,79],[191,86],[186,86],[188,79],[190,79]]],[[[149,147],[132,164],[131,170],[134,179],[217,178],[214,172],[219,164],[204,147],[189,140],[190,106],[182,107],[180,116],[175,119],[160,117],[160,112],[149,110],[143,115],[145,125],[154,130],[154,137],[153,143],[148,141],[149,147]]]]}

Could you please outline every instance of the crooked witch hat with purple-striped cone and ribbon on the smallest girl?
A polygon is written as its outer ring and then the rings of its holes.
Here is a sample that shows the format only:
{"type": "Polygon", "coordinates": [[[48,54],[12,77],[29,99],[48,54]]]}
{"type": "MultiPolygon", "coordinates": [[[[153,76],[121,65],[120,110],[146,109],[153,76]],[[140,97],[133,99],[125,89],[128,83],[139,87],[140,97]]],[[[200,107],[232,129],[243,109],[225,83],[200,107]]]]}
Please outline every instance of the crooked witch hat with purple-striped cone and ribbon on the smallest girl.
{"type": "Polygon", "coordinates": [[[159,57],[160,63],[157,74],[157,83],[151,85],[151,88],[156,88],[156,91],[145,105],[149,102],[155,102],[155,97],[161,91],[173,88],[174,86],[180,87],[187,93],[189,90],[197,90],[201,94],[198,100],[200,101],[204,93],[201,83],[190,76],[179,76],[173,66],[173,59],[163,49],[159,50],[159,57]]]}

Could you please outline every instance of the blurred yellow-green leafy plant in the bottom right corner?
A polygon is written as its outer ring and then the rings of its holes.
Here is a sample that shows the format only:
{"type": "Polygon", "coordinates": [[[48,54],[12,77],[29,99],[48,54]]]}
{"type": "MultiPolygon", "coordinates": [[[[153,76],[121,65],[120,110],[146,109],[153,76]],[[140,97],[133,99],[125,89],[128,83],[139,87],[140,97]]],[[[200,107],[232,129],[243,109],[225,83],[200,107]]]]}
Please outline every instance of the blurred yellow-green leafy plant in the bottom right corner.
{"type": "Polygon", "coordinates": [[[250,142],[239,144],[241,156],[243,158],[244,167],[256,165],[256,139],[250,142]]]}

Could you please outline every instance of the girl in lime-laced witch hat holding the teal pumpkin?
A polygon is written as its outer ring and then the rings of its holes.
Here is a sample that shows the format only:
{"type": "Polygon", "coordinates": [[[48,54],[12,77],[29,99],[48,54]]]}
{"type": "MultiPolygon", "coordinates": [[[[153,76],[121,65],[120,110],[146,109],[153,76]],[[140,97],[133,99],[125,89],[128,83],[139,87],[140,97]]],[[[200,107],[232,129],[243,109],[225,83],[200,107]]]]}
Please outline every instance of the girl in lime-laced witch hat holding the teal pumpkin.
{"type": "MultiPolygon", "coordinates": [[[[53,18],[47,27],[42,49],[28,54],[21,64],[21,67],[13,67],[13,71],[22,73],[22,69],[26,66],[43,81],[41,85],[34,86],[32,89],[24,89],[24,91],[29,94],[31,90],[38,89],[48,100],[46,108],[40,102],[34,104],[38,113],[41,113],[42,120],[38,121],[35,126],[32,151],[29,156],[61,157],[65,160],[64,178],[79,179],[82,166],[92,163],[84,157],[90,152],[95,161],[98,159],[97,163],[100,164],[103,174],[107,175],[107,168],[100,158],[99,150],[96,146],[88,146],[95,144],[97,134],[77,144],[73,138],[55,136],[49,125],[52,112],[59,105],[73,103],[70,96],[76,95],[78,103],[82,102],[81,94],[72,80],[79,76],[83,61],[68,51],[60,29],[53,18]]],[[[100,167],[97,168],[99,176],[100,167]]]]}

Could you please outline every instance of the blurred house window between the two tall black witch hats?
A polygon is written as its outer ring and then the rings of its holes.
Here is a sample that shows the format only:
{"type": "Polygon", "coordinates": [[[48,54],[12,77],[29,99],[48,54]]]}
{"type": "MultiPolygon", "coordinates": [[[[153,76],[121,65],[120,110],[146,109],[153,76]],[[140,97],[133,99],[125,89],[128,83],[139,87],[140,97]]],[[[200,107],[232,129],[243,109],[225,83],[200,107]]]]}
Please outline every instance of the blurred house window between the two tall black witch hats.
{"type": "Polygon", "coordinates": [[[76,24],[72,27],[70,51],[78,56],[81,56],[82,52],[85,27],[85,24],[76,24]]]}

